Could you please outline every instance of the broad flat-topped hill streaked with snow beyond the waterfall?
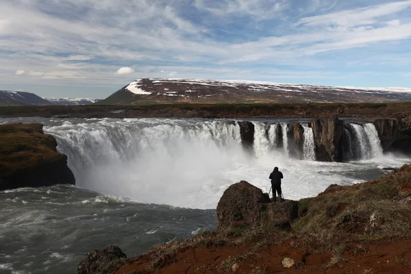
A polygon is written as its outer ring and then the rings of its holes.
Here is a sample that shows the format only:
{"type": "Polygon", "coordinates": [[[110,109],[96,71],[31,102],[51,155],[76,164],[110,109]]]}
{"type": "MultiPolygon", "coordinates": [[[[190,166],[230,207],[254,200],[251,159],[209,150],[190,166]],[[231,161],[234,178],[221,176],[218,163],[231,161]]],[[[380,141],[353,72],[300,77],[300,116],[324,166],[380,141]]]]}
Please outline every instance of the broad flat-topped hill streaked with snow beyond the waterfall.
{"type": "Polygon", "coordinates": [[[354,88],[203,79],[137,79],[99,105],[411,101],[411,88],[354,88]]]}

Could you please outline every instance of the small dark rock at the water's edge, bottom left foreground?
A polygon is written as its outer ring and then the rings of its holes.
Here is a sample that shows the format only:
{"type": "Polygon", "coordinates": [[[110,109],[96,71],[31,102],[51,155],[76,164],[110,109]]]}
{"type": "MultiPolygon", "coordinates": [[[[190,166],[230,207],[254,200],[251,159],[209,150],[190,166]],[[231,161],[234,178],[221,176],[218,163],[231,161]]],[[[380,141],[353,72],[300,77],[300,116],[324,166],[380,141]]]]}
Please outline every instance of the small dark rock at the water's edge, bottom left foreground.
{"type": "Polygon", "coordinates": [[[105,249],[96,249],[87,254],[77,266],[77,274],[111,273],[117,264],[127,256],[120,247],[110,245],[105,249]]]}

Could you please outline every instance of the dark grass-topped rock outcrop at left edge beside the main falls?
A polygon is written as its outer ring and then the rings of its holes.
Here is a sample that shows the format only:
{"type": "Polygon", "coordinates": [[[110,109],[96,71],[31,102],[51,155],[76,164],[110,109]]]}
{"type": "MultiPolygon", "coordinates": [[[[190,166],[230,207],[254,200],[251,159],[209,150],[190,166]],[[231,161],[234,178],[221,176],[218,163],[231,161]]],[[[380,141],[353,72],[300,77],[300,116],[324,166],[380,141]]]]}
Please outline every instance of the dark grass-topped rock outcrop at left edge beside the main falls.
{"type": "Polygon", "coordinates": [[[67,156],[41,124],[0,125],[0,190],[75,184],[67,156]]]}

